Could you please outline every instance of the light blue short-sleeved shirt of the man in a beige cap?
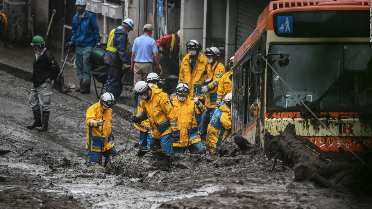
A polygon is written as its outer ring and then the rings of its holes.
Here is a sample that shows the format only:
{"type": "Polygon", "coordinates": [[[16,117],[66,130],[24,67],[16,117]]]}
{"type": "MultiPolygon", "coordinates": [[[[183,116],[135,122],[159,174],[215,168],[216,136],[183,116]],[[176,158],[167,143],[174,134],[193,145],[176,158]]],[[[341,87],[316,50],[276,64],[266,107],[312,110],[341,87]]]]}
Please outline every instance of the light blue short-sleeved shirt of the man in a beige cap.
{"type": "Polygon", "coordinates": [[[135,62],[153,62],[152,55],[158,53],[156,42],[149,35],[141,35],[134,40],[132,47],[135,62]]]}

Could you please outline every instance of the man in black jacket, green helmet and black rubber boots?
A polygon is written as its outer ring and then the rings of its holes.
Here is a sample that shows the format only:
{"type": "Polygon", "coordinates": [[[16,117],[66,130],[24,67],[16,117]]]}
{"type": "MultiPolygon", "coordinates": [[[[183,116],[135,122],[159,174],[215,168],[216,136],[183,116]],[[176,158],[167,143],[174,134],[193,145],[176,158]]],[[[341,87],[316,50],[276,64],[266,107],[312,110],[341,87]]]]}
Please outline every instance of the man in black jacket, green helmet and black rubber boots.
{"type": "Polygon", "coordinates": [[[45,41],[41,36],[35,36],[31,45],[35,50],[33,61],[32,87],[30,106],[35,121],[27,128],[41,127],[39,131],[48,130],[49,110],[52,97],[52,80],[57,78],[60,67],[52,54],[45,48],[45,41]],[[42,111],[42,118],[41,112],[42,111]]]}

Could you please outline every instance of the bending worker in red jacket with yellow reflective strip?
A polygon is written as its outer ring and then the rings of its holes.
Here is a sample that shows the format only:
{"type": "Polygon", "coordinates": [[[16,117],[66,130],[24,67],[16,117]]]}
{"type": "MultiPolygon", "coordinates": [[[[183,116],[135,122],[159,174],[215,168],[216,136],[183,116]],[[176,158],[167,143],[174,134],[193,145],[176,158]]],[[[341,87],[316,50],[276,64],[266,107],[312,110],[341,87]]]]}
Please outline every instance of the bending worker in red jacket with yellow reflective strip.
{"type": "Polygon", "coordinates": [[[161,74],[178,75],[181,30],[156,40],[160,53],[159,62],[162,66],[161,74]],[[177,70],[174,70],[177,69],[177,70]]]}

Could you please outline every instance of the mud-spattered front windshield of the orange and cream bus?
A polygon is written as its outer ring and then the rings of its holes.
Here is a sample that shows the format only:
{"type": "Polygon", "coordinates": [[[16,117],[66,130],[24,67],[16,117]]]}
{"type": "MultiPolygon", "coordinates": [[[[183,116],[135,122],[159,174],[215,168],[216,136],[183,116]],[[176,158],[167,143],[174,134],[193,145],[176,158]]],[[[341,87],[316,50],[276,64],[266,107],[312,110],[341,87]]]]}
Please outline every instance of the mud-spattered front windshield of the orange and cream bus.
{"type": "MultiPolygon", "coordinates": [[[[278,55],[268,60],[305,104],[323,111],[372,106],[372,45],[275,44],[270,53],[289,54],[286,67],[279,67],[278,55]]],[[[279,76],[267,70],[267,109],[301,106],[279,76]]]]}

